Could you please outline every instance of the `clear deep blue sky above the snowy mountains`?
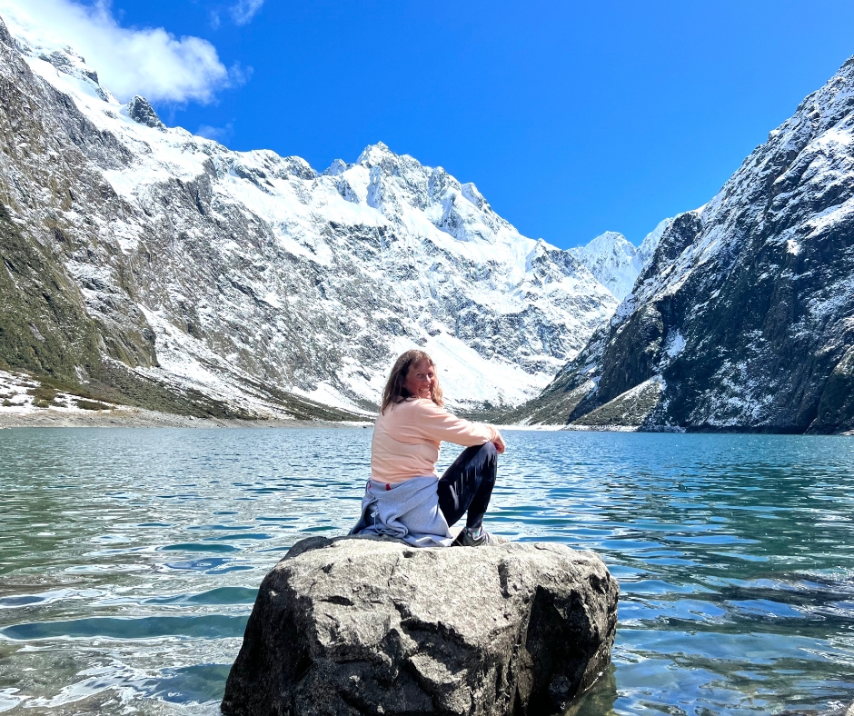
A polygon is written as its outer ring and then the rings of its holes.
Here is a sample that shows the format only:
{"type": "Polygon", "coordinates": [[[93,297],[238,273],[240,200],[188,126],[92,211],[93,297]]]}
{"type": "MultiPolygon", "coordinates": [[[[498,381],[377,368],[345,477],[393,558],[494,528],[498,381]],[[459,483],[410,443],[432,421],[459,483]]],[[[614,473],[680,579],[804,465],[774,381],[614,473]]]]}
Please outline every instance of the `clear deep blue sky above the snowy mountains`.
{"type": "Polygon", "coordinates": [[[606,230],[638,244],[704,204],[854,55],[849,1],[114,0],[100,12],[202,38],[227,69],[207,94],[154,98],[167,124],[318,170],[382,140],[561,247],[606,230]]]}

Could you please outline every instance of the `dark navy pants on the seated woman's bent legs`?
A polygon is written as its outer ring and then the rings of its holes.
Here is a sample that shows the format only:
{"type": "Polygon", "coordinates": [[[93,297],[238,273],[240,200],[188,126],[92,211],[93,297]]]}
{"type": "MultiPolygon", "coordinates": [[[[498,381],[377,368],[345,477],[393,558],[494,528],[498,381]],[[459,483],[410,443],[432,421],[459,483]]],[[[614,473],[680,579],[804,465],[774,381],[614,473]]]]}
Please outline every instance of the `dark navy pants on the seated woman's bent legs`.
{"type": "Polygon", "coordinates": [[[466,527],[478,529],[482,525],[497,472],[498,452],[492,443],[466,448],[453,461],[437,488],[439,509],[449,527],[466,511],[466,527]]]}

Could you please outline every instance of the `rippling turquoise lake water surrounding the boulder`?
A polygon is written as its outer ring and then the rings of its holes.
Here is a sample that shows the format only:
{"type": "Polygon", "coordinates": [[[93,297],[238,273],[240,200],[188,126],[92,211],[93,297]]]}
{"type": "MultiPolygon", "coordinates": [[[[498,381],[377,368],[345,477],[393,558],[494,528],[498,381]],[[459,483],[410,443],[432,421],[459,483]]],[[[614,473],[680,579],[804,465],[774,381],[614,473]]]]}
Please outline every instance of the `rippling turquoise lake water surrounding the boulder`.
{"type": "MultiPolygon", "coordinates": [[[[854,440],[506,438],[488,529],[595,550],[621,583],[613,667],[571,713],[854,700],[854,440]]],[[[218,713],[264,574],[349,530],[370,441],[0,431],[0,711],[218,713]]]]}

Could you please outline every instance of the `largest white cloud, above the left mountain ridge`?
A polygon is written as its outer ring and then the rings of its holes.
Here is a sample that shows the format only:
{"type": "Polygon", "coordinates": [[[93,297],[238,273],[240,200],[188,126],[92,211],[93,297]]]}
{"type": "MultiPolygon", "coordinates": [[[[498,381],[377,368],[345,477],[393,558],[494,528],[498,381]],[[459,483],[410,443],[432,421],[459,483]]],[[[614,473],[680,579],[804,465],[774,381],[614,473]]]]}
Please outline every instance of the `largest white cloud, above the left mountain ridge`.
{"type": "Polygon", "coordinates": [[[30,45],[71,46],[124,102],[134,94],[152,102],[210,102],[218,90],[240,85],[247,76],[226,69],[214,45],[201,37],[179,39],[163,27],[122,27],[105,0],[0,0],[0,15],[30,45]]]}

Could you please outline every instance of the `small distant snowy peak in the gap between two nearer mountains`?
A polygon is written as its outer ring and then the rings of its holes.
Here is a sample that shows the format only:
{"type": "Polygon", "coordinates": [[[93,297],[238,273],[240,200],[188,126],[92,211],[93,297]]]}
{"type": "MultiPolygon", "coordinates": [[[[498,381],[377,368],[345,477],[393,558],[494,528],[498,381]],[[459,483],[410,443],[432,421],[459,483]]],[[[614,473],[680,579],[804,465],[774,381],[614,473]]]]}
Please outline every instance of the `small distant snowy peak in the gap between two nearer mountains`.
{"type": "Polygon", "coordinates": [[[631,292],[640,272],[649,263],[661,234],[670,221],[671,219],[665,219],[660,222],[646,235],[640,246],[631,244],[622,234],[606,231],[594,238],[590,244],[570,249],[570,252],[591,270],[596,279],[611,291],[618,301],[622,301],[631,292]]]}

